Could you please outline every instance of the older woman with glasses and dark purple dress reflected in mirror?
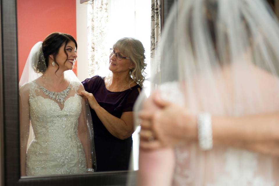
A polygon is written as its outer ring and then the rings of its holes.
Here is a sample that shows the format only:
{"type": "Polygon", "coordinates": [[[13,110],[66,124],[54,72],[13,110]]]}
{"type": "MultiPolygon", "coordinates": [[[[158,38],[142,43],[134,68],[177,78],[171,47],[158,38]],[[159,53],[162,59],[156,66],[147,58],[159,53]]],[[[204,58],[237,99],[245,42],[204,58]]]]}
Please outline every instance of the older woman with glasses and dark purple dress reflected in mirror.
{"type": "Polygon", "coordinates": [[[144,47],[139,40],[122,38],[111,49],[111,77],[83,81],[91,107],[97,171],[127,170],[133,144],[133,105],[144,82],[144,47]]]}

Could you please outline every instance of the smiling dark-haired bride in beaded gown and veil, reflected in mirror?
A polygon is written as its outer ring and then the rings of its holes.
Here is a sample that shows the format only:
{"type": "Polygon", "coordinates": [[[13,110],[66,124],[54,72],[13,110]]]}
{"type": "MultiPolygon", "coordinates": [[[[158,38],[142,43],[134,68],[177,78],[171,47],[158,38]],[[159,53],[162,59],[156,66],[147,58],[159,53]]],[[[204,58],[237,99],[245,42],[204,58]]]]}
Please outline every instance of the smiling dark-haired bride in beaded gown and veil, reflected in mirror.
{"type": "Polygon", "coordinates": [[[76,49],[74,37],[56,32],[30,51],[19,81],[22,176],[96,170],[91,116],[72,71],[76,49]]]}

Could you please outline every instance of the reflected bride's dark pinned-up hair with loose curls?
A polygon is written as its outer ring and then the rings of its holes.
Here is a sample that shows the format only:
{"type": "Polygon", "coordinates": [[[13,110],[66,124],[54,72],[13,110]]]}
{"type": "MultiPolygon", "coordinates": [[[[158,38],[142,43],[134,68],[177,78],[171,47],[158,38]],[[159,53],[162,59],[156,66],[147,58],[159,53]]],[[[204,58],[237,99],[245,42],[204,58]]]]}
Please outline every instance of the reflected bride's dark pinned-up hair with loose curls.
{"type": "MultiPolygon", "coordinates": [[[[35,67],[35,71],[37,73],[44,73],[46,71],[45,67],[48,67],[49,65],[49,55],[53,55],[53,60],[58,65],[58,63],[56,62],[56,56],[59,52],[60,47],[64,43],[65,43],[64,52],[68,58],[68,54],[65,48],[69,41],[74,42],[76,45],[76,49],[78,48],[76,40],[74,39],[73,36],[69,34],[60,33],[60,32],[53,32],[49,34],[42,43],[43,55],[40,54],[40,58],[39,58],[39,60],[45,61],[45,65],[42,63],[38,63],[37,67],[35,67]]],[[[59,65],[58,65],[58,69],[59,69],[59,65]]],[[[58,69],[56,71],[58,71],[58,69]]]]}

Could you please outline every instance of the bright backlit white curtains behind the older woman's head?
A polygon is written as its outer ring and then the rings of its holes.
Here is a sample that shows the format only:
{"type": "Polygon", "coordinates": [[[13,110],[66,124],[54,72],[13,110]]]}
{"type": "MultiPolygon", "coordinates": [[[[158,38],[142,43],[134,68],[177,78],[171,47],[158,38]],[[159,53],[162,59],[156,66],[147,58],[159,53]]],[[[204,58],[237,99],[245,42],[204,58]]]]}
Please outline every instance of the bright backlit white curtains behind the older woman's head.
{"type": "MultiPolygon", "coordinates": [[[[145,48],[150,64],[150,0],[94,0],[88,5],[89,75],[108,74],[109,51],[122,37],[134,37],[145,48]]],[[[150,65],[146,72],[150,74],[150,65]]]]}

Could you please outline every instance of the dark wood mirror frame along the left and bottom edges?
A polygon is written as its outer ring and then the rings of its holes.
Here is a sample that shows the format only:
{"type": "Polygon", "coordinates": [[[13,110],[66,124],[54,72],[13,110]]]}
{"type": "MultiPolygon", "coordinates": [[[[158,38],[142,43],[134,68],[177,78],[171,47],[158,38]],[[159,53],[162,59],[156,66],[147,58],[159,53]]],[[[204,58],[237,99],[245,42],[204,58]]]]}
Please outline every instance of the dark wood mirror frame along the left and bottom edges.
{"type": "MultiPolygon", "coordinates": [[[[135,171],[20,178],[16,0],[1,0],[0,122],[1,185],[125,185],[135,171]]],[[[135,183],[135,182],[134,182],[135,183]]],[[[136,185],[136,183],[135,183],[136,185]]]]}

